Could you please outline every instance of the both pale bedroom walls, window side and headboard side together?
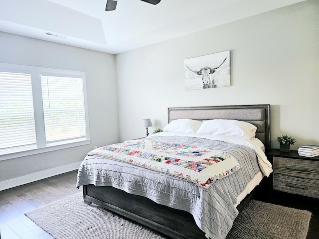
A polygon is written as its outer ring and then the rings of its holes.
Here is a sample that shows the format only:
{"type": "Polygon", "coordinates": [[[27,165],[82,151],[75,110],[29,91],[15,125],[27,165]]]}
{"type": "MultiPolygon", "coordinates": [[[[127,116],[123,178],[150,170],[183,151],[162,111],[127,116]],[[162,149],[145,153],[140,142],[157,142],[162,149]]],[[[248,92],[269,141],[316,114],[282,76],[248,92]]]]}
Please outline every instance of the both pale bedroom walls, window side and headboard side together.
{"type": "Polygon", "coordinates": [[[272,147],[283,133],[297,137],[293,149],[319,144],[318,12],[307,0],[116,56],[0,32],[2,63],[86,72],[92,139],[0,161],[0,190],[75,169],[94,145],[144,136],[144,118],[150,132],[163,127],[168,107],[271,104],[272,147]],[[184,90],[184,59],[226,50],[231,87],[184,90]]]}

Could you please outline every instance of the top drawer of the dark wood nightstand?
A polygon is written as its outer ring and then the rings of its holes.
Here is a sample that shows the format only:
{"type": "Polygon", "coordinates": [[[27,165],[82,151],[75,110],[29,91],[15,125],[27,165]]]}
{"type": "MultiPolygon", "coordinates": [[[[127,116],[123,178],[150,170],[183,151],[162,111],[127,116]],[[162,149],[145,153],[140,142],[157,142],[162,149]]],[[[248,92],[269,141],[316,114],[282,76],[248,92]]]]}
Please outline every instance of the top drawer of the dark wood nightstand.
{"type": "Polygon", "coordinates": [[[274,157],[273,164],[274,175],[313,179],[319,183],[319,163],[316,161],[274,157]]]}

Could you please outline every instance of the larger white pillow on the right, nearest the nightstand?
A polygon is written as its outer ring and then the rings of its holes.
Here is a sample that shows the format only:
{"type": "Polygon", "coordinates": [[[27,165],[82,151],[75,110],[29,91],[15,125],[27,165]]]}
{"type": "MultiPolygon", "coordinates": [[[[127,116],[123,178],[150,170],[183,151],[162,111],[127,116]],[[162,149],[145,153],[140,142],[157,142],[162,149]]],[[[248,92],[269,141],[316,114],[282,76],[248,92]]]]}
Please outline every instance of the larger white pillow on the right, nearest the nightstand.
{"type": "Polygon", "coordinates": [[[217,134],[253,139],[257,127],[251,123],[235,119],[211,119],[203,120],[199,134],[217,134]]]}

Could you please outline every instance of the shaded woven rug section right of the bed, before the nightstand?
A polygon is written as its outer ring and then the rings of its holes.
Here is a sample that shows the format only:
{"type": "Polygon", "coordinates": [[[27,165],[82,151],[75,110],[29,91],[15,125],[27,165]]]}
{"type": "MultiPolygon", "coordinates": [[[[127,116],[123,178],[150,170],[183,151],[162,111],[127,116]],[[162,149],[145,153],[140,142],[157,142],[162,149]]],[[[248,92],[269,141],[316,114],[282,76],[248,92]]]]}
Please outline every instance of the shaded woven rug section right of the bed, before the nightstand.
{"type": "Polygon", "coordinates": [[[251,200],[226,239],[305,239],[311,212],[251,200]]]}

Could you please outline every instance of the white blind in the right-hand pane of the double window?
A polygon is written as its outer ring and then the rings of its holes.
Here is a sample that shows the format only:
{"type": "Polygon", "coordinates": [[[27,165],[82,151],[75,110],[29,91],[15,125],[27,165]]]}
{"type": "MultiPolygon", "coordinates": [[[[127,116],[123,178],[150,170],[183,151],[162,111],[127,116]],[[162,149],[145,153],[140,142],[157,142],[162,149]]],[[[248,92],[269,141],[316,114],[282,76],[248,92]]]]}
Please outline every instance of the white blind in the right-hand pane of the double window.
{"type": "Polygon", "coordinates": [[[85,138],[83,78],[41,73],[46,142],[85,138]]]}

